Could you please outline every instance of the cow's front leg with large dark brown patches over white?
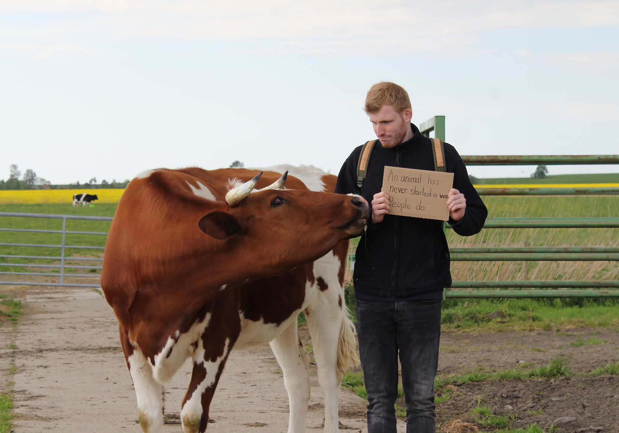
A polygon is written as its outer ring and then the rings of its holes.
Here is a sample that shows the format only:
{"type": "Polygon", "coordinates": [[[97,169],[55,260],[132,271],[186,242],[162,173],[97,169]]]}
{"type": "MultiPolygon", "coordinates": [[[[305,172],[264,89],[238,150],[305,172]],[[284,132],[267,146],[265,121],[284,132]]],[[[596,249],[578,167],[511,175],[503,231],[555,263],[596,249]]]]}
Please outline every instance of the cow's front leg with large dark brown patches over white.
{"type": "Polygon", "coordinates": [[[185,433],[206,431],[210,401],[228,354],[241,333],[238,298],[222,294],[214,302],[209,323],[194,343],[191,382],[181,406],[181,424],[185,433]]]}

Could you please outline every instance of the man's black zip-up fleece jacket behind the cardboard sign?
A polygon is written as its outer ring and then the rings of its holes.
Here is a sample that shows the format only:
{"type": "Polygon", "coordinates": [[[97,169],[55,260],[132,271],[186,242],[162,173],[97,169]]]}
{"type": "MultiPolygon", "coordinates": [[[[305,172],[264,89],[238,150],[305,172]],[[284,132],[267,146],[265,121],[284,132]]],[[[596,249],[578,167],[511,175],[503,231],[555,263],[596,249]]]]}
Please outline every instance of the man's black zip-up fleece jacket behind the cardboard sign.
{"type": "MultiPolygon", "coordinates": [[[[381,191],[384,166],[434,170],[430,139],[424,137],[417,126],[410,126],[412,139],[391,149],[374,145],[362,194],[370,205],[374,194],[381,191]]],[[[456,149],[445,143],[444,150],[446,169],[454,173],[453,187],[466,199],[464,217],[460,221],[449,218],[448,223],[457,234],[472,236],[482,229],[488,210],[470,183],[456,149]]],[[[337,176],[334,192],[359,193],[357,163],[360,153],[361,146],[348,156],[337,176]]],[[[384,301],[425,298],[420,294],[436,293],[451,286],[443,221],[385,215],[381,223],[373,224],[370,218],[357,247],[353,282],[358,299],[384,301]]]]}

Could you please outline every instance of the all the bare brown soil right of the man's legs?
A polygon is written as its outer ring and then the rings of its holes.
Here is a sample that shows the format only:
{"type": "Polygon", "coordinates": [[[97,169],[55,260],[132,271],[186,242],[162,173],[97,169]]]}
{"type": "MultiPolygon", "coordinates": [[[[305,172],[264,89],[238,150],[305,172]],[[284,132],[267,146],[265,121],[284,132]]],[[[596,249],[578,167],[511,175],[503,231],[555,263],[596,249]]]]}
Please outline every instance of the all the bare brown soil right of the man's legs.
{"type": "MultiPolygon", "coordinates": [[[[470,416],[470,409],[482,405],[493,409],[495,414],[513,414],[512,428],[528,424],[545,428],[556,424],[559,427],[557,432],[619,433],[619,377],[586,377],[597,367],[619,361],[619,333],[612,329],[480,335],[443,333],[438,374],[448,376],[478,369],[514,369],[522,363],[535,368],[550,364],[557,356],[565,358],[569,368],[580,376],[456,384],[449,390],[454,397],[436,408],[438,430],[451,431],[448,424],[452,422],[454,432],[465,433],[475,431],[475,428],[493,431],[470,416]],[[462,424],[459,430],[455,428],[456,420],[462,424]]],[[[437,397],[441,396],[442,393],[438,392],[437,397]]],[[[396,404],[407,407],[404,398],[399,398],[396,404]]]]}

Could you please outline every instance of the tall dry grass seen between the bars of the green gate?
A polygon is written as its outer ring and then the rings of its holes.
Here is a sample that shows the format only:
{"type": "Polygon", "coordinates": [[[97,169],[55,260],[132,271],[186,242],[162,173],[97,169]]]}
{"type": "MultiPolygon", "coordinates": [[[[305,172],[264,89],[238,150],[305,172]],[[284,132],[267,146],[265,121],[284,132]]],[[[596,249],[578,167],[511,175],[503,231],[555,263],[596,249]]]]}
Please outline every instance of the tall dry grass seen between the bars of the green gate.
{"type": "MultiPolygon", "coordinates": [[[[619,197],[485,197],[494,218],[615,217],[619,197]]],[[[617,228],[485,229],[468,238],[448,230],[449,247],[617,247],[617,228]]],[[[452,262],[454,281],[617,280],[617,262],[452,262]],[[526,272],[523,272],[526,265],[526,272]],[[526,275],[526,278],[525,278],[526,275]]]]}

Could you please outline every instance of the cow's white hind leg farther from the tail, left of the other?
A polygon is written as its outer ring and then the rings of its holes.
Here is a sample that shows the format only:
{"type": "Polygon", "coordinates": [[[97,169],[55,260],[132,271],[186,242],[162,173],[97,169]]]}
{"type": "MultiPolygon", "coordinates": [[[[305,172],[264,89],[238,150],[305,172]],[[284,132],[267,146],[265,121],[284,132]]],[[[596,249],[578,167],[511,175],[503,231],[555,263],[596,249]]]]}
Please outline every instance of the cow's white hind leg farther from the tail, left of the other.
{"type": "Polygon", "coordinates": [[[305,432],[305,418],[309,400],[309,357],[297,333],[297,319],[271,341],[271,349],[284,373],[288,392],[290,418],[288,433],[305,432]]]}

